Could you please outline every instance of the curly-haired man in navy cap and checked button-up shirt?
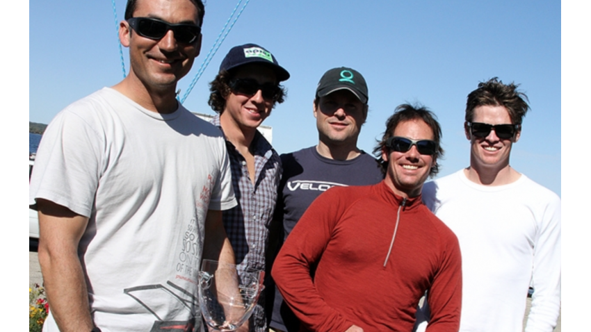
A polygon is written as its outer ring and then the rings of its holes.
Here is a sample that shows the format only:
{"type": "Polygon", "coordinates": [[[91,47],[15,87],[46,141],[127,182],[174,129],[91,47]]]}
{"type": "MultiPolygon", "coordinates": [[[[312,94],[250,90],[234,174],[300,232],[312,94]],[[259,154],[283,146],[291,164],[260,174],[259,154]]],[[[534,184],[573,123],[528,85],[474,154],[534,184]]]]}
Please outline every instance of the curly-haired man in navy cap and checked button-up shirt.
{"type": "MultiPolygon", "coordinates": [[[[210,83],[211,122],[224,133],[238,206],[223,214],[238,273],[265,269],[269,226],[277,200],[281,160],[257,128],[276,103],[285,99],[280,82],[289,73],[270,51],[257,44],[230,49],[210,83]]],[[[266,331],[264,294],[247,326],[238,331],[266,331]]]]}

